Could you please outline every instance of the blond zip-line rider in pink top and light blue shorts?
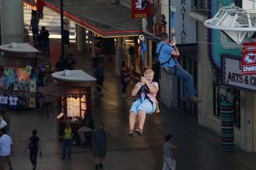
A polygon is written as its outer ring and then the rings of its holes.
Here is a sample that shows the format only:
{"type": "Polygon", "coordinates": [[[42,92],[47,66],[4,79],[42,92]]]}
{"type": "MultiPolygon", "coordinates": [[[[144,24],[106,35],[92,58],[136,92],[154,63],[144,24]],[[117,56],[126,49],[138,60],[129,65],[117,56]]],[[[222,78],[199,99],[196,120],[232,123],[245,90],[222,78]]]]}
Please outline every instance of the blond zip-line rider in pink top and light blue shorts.
{"type": "Polygon", "coordinates": [[[134,134],[134,126],[136,118],[139,119],[139,127],[135,129],[135,133],[139,136],[143,134],[143,126],[146,120],[146,114],[153,114],[156,112],[157,101],[156,93],[158,92],[158,83],[152,82],[154,78],[154,71],[152,69],[146,69],[144,71],[144,77],[141,77],[141,81],[138,82],[131,95],[135,97],[129,114],[129,136],[134,134]]]}

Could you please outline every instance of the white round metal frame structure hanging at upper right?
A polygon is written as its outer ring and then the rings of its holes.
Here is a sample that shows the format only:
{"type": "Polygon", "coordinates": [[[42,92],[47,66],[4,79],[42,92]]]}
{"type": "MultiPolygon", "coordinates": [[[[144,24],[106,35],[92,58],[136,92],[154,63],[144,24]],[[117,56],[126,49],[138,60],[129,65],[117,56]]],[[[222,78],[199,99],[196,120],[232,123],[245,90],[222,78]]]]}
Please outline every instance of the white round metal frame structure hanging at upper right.
{"type": "Polygon", "coordinates": [[[219,11],[211,19],[207,19],[204,25],[207,28],[221,30],[236,44],[241,44],[245,37],[251,38],[256,31],[256,10],[245,10],[232,3],[226,7],[220,7],[219,11]]]}

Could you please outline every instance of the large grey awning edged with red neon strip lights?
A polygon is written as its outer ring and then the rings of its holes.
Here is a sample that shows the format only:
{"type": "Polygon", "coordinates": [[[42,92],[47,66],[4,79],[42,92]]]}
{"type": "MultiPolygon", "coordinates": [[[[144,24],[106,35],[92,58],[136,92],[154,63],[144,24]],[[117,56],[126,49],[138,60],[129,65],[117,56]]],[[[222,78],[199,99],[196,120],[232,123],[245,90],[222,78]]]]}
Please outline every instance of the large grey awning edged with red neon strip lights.
{"type": "MultiPolygon", "coordinates": [[[[45,6],[59,13],[59,0],[46,0],[45,6]]],[[[141,19],[131,19],[131,9],[106,0],[65,0],[64,15],[102,37],[137,36],[141,19]]]]}

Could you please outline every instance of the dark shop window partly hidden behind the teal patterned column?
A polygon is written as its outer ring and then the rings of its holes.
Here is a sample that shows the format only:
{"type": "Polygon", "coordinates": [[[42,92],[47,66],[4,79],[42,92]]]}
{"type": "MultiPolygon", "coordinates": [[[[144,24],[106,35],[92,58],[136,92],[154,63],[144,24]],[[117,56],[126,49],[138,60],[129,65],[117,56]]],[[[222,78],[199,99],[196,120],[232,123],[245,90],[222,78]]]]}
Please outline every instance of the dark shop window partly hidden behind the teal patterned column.
{"type": "MultiPolygon", "coordinates": [[[[213,96],[214,96],[214,116],[220,118],[220,86],[213,85],[213,96]]],[[[230,89],[234,95],[234,126],[241,128],[241,101],[240,101],[240,90],[230,89]]]]}

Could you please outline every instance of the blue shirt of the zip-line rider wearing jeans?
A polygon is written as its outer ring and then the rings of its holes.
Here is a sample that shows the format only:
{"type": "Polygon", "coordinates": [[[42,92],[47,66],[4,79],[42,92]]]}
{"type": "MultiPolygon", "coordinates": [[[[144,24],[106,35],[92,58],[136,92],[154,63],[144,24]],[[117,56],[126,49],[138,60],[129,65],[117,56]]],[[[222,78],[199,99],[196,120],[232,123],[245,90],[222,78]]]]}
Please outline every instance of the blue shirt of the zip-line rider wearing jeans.
{"type": "MultiPolygon", "coordinates": [[[[159,42],[157,48],[156,48],[156,52],[159,54],[158,60],[160,63],[164,63],[166,61],[168,61],[168,59],[171,57],[170,55],[172,54],[173,48],[166,42],[159,42]],[[162,46],[162,48],[161,48],[162,46]],[[161,51],[160,51],[161,48],[161,51]],[[159,54],[160,51],[160,54],[159,54]]],[[[176,59],[172,58],[170,59],[170,62],[167,62],[164,65],[160,65],[160,67],[174,67],[174,65],[176,65],[176,59]]]]}

